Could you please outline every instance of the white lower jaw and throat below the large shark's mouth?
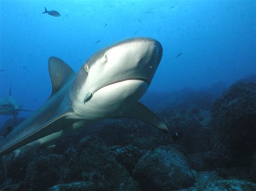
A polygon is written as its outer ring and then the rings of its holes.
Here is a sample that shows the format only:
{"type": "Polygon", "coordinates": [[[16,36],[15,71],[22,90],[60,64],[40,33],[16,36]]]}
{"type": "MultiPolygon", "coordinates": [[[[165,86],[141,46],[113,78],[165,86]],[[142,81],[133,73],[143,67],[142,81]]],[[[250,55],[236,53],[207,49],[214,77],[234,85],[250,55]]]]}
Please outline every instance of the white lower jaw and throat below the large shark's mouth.
{"type": "Polygon", "coordinates": [[[73,102],[73,111],[77,118],[83,119],[120,117],[142,97],[147,87],[147,83],[142,80],[113,83],[96,91],[86,103],[77,99],[80,101],[73,102]]]}

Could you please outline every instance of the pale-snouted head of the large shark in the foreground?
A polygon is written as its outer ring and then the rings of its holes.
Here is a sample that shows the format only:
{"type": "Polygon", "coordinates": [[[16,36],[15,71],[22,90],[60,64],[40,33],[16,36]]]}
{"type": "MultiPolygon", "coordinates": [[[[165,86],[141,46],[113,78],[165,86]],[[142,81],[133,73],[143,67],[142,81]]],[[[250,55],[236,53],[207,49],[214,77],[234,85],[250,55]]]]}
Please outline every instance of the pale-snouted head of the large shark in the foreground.
{"type": "Polygon", "coordinates": [[[149,87],[162,54],[161,44],[149,38],[125,40],[96,52],[80,68],[71,86],[73,109],[89,115],[89,107],[103,113],[107,107],[111,114],[137,102],[149,87]]]}

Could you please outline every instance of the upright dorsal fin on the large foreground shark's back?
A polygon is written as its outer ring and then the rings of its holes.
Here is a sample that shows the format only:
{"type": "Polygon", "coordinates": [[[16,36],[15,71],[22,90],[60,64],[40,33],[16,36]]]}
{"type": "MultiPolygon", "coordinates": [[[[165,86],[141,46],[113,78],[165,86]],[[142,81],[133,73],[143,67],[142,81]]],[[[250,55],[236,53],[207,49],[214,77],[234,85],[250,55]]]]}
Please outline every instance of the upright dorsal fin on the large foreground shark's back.
{"type": "MultiPolygon", "coordinates": [[[[55,94],[60,87],[62,87],[67,79],[70,78],[75,72],[66,64],[63,60],[57,57],[51,56],[48,61],[49,74],[52,84],[51,96],[55,94]]],[[[50,96],[50,97],[51,97],[50,96]]]]}

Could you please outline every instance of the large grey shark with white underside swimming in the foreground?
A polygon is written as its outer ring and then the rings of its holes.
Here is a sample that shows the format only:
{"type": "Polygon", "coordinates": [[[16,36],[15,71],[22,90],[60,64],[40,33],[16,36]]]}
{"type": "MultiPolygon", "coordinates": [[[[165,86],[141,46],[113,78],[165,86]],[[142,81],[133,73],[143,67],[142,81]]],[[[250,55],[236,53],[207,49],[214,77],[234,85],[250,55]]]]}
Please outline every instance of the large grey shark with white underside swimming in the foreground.
{"type": "Polygon", "coordinates": [[[150,86],[162,54],[157,40],[128,39],[93,54],[77,74],[64,61],[50,57],[50,97],[3,140],[0,155],[24,145],[50,146],[57,138],[105,118],[137,118],[168,132],[138,102],[150,86]]]}

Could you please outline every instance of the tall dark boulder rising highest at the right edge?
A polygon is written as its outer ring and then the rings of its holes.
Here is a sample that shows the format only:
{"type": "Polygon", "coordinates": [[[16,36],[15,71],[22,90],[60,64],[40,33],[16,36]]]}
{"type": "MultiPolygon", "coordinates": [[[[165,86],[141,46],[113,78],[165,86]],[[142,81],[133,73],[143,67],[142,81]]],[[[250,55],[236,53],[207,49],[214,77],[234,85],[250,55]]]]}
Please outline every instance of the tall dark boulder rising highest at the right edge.
{"type": "Polygon", "coordinates": [[[256,150],[256,84],[233,84],[212,107],[217,166],[248,166],[256,150]]]}

